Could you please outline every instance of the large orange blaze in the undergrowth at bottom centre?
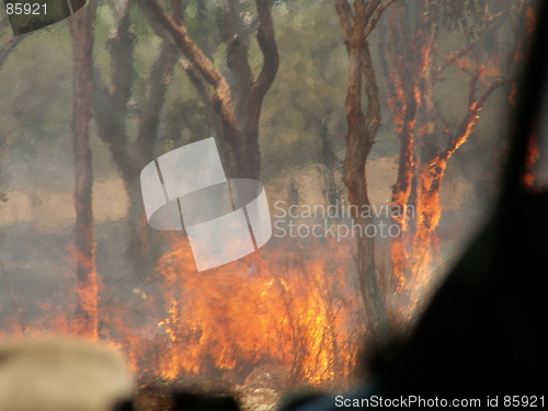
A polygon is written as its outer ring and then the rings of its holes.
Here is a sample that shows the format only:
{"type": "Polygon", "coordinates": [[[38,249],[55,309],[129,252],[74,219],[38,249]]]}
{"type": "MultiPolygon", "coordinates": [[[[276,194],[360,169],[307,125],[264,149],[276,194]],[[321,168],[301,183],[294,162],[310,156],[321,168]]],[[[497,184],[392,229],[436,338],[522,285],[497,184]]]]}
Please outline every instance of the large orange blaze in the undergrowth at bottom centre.
{"type": "Polygon", "coordinates": [[[358,339],[351,322],[361,307],[347,277],[351,250],[330,241],[294,247],[265,247],[197,273],[187,240],[173,239],[158,266],[167,316],[148,330],[153,341],[133,339],[136,372],[238,380],[275,364],[297,383],[347,376],[358,339]]]}

